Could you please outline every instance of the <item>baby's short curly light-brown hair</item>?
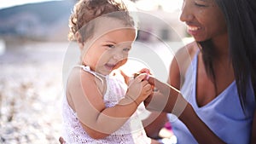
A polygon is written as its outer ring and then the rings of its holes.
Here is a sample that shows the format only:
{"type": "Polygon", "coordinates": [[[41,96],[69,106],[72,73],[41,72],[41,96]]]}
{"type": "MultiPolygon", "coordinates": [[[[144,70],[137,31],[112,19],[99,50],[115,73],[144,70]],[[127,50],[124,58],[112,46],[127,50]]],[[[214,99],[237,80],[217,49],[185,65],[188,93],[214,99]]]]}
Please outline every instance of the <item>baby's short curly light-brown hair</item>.
{"type": "MultiPolygon", "coordinates": [[[[79,0],[79,2],[74,5],[73,13],[69,18],[68,40],[76,40],[75,33],[79,32],[79,29],[88,24],[90,20],[94,20],[103,14],[119,11],[122,12],[122,15],[115,18],[125,21],[129,26],[134,26],[134,21],[121,0],[79,0]]],[[[90,37],[92,32],[93,30],[87,31],[86,36],[82,34],[83,41],[90,37]]]]}

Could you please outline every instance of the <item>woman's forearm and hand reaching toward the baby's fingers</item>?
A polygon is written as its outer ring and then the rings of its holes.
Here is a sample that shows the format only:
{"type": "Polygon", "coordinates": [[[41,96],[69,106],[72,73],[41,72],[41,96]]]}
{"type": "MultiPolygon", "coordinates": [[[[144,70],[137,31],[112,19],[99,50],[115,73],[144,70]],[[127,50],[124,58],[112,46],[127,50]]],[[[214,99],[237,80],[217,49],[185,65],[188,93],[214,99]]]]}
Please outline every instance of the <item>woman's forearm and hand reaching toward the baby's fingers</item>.
{"type": "Polygon", "coordinates": [[[144,101],[148,110],[163,111],[175,114],[187,126],[195,140],[199,143],[216,144],[224,143],[207,127],[201,118],[197,116],[193,107],[183,98],[177,89],[173,89],[168,84],[161,83],[159,80],[149,78],[149,82],[159,89],[154,95],[150,95],[144,101]]]}

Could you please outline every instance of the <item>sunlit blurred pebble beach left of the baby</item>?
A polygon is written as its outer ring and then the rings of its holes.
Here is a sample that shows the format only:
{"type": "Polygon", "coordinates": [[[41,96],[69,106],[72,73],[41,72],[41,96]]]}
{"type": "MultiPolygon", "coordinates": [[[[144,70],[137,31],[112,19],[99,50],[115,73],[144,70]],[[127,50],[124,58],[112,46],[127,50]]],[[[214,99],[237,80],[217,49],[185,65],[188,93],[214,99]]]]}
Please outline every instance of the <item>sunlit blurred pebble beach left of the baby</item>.
{"type": "Polygon", "coordinates": [[[68,43],[6,43],[0,55],[0,143],[56,144],[68,43]]]}

